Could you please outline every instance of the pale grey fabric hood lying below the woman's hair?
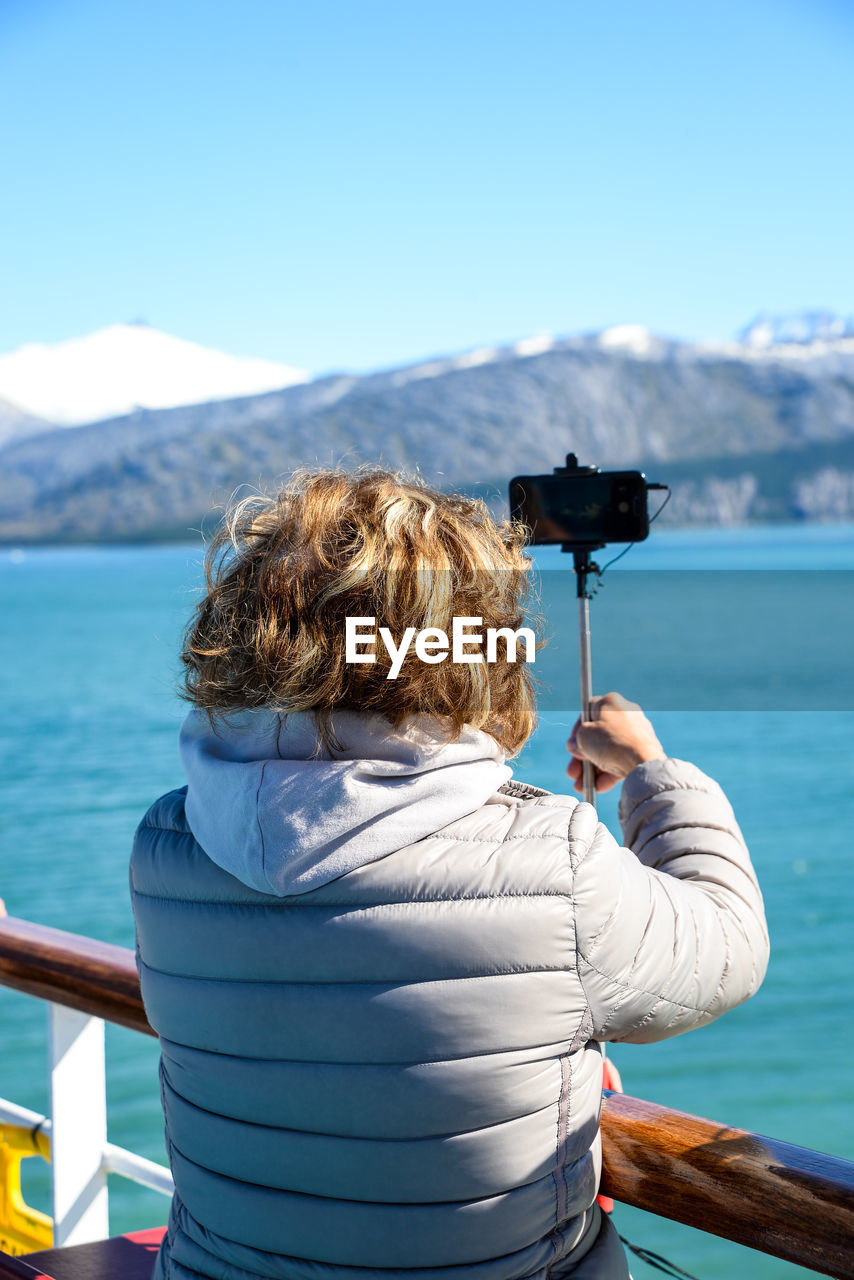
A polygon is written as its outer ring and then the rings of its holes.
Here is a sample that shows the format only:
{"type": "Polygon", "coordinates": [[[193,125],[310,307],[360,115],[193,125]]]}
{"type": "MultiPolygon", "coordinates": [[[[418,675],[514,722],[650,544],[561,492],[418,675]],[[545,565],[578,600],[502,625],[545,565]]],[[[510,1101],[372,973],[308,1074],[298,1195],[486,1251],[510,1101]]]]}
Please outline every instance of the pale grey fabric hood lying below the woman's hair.
{"type": "Polygon", "coordinates": [[[339,712],[342,750],[316,753],[310,713],[218,718],[191,710],[181,737],[189,829],[207,856],[261,893],[307,893],[474,813],[510,778],[480,730],[448,742],[438,721],[393,730],[339,712]]]}

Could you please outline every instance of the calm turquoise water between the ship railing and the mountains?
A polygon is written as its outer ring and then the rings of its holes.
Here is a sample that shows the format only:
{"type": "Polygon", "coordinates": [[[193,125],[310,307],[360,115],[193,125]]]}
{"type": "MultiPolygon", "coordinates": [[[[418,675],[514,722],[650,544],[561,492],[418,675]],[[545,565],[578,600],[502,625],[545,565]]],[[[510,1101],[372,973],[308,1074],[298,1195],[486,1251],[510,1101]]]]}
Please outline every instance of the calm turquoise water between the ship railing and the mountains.
{"type": "MultiPolygon", "coordinates": [[[[540,564],[556,634],[539,668],[542,724],[516,774],[562,790],[575,716],[572,584],[557,576],[557,554],[540,564]]],[[[615,566],[592,607],[598,689],[643,692],[659,708],[668,753],[723,785],[753,850],[773,946],[750,1004],[663,1044],[617,1046],[626,1088],[848,1158],[853,581],[853,526],[665,531],[615,566]],[[757,600],[745,630],[739,618],[757,600]]],[[[10,914],[132,945],[133,829],[183,781],[175,654],[198,582],[197,548],[0,550],[0,895],[10,914]]],[[[616,799],[600,812],[616,829],[616,799]]],[[[46,1110],[44,1007],[0,988],[0,1096],[46,1110]]],[[[164,1160],[155,1043],[108,1028],[108,1055],[111,1140],[164,1160]]],[[[27,1194],[49,1208],[38,1164],[26,1167],[27,1194]]],[[[165,1221],[165,1201],[114,1181],[114,1230],[165,1221]]],[[[617,1213],[624,1235],[708,1280],[807,1275],[617,1213]]],[[[636,1260],[632,1272],[654,1274],[636,1260]]]]}

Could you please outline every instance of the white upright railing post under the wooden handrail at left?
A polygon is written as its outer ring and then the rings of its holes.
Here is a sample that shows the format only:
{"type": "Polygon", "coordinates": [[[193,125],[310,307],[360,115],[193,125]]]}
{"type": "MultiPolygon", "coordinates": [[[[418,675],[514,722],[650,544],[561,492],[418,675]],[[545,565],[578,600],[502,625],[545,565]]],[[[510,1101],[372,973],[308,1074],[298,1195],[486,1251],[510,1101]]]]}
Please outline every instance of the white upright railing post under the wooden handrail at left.
{"type": "Polygon", "coordinates": [[[49,1005],[54,1244],[109,1235],[104,1023],[49,1005]]]}

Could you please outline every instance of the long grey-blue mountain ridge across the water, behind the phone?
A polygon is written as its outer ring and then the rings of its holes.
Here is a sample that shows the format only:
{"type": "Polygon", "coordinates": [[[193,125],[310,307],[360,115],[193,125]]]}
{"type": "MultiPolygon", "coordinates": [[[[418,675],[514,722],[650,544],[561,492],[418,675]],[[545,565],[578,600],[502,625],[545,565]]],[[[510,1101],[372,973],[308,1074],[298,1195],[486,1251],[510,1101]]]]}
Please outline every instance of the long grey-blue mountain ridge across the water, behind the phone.
{"type": "Polygon", "coordinates": [[[681,488],[662,518],[854,516],[854,342],[831,344],[828,362],[827,343],[809,361],[653,348],[636,329],[602,339],[332,374],[10,442],[0,540],[181,536],[234,489],[311,465],[382,461],[498,509],[510,476],[570,449],[654,479],[670,467],[681,488]]]}

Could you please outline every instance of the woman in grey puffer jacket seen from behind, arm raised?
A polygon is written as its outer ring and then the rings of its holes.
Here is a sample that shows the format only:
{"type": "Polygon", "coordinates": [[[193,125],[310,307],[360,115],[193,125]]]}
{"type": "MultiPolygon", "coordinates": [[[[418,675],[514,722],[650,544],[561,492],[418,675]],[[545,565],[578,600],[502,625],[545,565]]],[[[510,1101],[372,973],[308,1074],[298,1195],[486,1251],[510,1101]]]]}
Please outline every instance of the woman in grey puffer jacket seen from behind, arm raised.
{"type": "Polygon", "coordinates": [[[297,476],[214,541],[188,786],[132,861],[159,1277],[627,1276],[595,1203],[600,1042],[737,1005],[767,934],[725,796],[638,708],[599,699],[570,741],[576,781],[583,754],[622,781],[621,849],[510,781],[535,716],[508,650],[410,644],[391,678],[407,634],[519,628],[526,567],[481,503],[379,471],[297,476]],[[392,649],[348,660],[347,618],[392,649]]]}

